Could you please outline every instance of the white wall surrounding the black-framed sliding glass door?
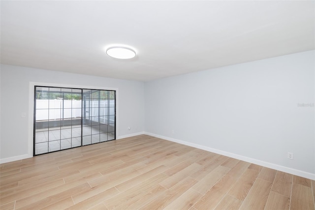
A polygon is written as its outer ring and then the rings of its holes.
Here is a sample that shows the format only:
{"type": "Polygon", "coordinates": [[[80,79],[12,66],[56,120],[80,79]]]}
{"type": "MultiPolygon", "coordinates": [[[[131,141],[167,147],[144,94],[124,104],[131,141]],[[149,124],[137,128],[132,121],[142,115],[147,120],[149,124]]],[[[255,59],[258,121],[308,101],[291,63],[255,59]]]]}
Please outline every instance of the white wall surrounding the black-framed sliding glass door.
{"type": "Polygon", "coordinates": [[[143,82],[8,65],[0,67],[1,163],[32,157],[32,97],[36,84],[117,90],[116,139],[144,132],[143,82]],[[26,118],[21,117],[22,112],[27,113],[26,118]]]}

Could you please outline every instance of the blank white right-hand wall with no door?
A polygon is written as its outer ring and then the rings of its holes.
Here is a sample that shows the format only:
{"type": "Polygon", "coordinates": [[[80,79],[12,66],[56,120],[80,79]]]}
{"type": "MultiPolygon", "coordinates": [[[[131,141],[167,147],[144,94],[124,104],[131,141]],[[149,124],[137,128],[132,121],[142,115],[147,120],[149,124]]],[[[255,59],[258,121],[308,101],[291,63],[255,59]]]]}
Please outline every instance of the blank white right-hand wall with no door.
{"type": "Polygon", "coordinates": [[[315,102],[314,62],[307,51],[147,82],[145,131],[315,179],[314,106],[298,106],[315,102]]]}

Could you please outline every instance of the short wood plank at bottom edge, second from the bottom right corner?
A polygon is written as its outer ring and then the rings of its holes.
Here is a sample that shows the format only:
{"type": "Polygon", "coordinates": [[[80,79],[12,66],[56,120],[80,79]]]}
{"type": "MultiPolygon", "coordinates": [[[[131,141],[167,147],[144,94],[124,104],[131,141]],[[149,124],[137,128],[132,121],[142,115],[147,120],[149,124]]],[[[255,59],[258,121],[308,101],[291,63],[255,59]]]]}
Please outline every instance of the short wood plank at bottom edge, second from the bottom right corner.
{"type": "Polygon", "coordinates": [[[265,210],[289,210],[290,198],[271,191],[265,206],[265,210]]]}

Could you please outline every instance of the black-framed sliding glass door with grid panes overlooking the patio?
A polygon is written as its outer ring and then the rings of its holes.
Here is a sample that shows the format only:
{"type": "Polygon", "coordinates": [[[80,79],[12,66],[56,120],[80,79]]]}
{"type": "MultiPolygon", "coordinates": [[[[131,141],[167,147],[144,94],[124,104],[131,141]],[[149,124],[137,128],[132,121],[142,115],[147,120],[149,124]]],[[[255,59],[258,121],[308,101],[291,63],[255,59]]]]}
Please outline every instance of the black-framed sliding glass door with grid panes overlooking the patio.
{"type": "Polygon", "coordinates": [[[34,155],[115,140],[115,91],[35,86],[34,155]]]}

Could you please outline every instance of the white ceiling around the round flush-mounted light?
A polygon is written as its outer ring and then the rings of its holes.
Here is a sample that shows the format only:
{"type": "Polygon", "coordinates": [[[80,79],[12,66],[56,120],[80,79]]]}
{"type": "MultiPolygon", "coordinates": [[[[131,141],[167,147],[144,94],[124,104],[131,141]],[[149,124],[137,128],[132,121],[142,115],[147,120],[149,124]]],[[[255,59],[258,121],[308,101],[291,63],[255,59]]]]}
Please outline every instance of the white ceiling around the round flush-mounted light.
{"type": "Polygon", "coordinates": [[[149,81],[315,49],[315,1],[0,1],[1,64],[149,81]],[[132,46],[130,60],[108,57],[132,46]]]}

